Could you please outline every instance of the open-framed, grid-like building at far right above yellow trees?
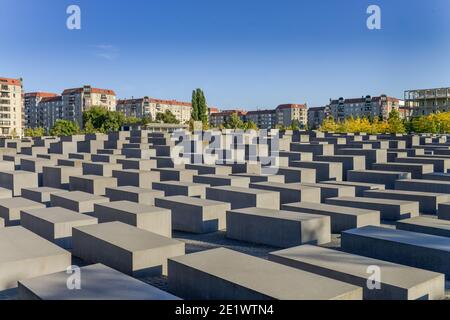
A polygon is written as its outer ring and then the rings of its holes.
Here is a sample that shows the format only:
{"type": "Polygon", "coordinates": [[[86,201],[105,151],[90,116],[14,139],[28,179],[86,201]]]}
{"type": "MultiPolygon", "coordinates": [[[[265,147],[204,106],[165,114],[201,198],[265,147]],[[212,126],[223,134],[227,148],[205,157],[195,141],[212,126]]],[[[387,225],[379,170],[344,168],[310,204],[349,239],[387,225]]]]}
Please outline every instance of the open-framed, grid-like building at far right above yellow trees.
{"type": "Polygon", "coordinates": [[[405,116],[450,111],[450,87],[405,91],[405,116]]]}

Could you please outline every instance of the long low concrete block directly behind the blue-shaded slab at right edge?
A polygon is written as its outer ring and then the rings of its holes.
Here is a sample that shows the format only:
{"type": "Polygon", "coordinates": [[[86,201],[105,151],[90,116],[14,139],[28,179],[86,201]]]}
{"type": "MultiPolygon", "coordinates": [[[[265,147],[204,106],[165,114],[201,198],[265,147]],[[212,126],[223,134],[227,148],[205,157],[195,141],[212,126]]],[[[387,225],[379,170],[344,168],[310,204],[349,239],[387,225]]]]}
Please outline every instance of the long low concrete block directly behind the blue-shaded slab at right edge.
{"type": "Polygon", "coordinates": [[[419,215],[419,203],[416,201],[340,197],[329,198],[325,202],[336,206],[378,210],[380,211],[381,219],[383,220],[400,220],[417,217],[419,215]]]}

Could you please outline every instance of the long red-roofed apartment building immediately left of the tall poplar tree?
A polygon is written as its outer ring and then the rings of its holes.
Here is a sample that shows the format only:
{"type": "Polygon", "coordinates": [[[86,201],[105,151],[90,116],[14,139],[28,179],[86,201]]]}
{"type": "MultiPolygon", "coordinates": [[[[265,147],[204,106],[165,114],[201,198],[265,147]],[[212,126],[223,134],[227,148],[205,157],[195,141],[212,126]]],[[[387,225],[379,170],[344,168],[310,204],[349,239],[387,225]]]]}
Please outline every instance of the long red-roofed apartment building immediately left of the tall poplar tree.
{"type": "Polygon", "coordinates": [[[118,100],[116,110],[122,112],[127,117],[156,119],[158,113],[166,110],[172,112],[180,123],[184,124],[191,119],[192,105],[189,102],[177,100],[162,100],[149,97],[139,99],[118,100]]]}

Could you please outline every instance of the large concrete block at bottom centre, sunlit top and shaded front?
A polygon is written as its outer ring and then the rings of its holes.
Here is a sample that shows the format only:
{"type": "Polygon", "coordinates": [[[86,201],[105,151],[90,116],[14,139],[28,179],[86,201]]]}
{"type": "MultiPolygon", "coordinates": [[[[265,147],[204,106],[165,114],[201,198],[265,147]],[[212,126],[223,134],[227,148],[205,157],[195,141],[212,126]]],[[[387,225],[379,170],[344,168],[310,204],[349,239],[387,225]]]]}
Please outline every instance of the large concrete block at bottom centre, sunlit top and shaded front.
{"type": "Polygon", "coordinates": [[[184,299],[362,298],[360,287],[225,248],[171,258],[169,275],[169,291],[184,299]]]}

